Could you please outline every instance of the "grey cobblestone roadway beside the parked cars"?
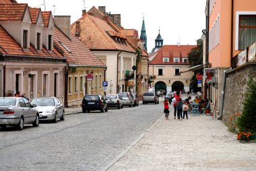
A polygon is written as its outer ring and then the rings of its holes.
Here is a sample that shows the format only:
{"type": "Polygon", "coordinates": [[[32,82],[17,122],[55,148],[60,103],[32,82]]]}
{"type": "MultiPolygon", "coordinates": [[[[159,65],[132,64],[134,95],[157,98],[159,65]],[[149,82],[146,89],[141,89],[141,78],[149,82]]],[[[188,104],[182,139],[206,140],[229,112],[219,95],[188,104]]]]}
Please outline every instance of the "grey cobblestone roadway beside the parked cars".
{"type": "Polygon", "coordinates": [[[162,105],[79,112],[65,121],[0,129],[0,170],[106,170],[162,116],[162,105]]]}

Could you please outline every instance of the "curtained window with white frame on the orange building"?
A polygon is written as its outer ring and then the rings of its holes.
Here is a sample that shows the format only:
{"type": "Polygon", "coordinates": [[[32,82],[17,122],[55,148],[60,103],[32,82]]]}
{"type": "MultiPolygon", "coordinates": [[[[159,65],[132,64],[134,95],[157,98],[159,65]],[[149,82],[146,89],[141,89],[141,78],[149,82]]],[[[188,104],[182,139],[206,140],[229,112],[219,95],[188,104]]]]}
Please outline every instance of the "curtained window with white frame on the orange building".
{"type": "Polygon", "coordinates": [[[238,48],[245,49],[256,40],[256,15],[239,15],[238,48]]]}

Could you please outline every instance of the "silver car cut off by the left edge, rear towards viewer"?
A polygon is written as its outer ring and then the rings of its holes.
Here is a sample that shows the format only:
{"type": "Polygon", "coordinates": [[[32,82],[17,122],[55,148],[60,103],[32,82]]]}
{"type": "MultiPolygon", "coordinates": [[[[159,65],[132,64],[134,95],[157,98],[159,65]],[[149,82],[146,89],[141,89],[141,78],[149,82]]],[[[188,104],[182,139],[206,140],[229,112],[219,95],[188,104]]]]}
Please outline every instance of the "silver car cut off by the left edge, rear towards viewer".
{"type": "Polygon", "coordinates": [[[26,98],[0,98],[0,127],[15,126],[22,130],[24,124],[39,125],[39,113],[36,105],[30,104],[26,98]]]}

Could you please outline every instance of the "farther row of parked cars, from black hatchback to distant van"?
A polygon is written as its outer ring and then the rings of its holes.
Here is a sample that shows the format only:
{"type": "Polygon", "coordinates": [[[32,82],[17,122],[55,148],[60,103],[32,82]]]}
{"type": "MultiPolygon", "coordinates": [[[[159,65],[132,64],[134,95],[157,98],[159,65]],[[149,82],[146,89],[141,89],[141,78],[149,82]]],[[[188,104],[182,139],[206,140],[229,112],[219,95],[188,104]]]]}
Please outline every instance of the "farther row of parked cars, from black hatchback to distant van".
{"type": "MultiPolygon", "coordinates": [[[[146,92],[142,98],[143,104],[159,104],[159,97],[154,92],[146,92]]],[[[139,97],[137,93],[122,92],[119,94],[107,94],[105,97],[97,94],[88,94],[82,101],[82,111],[90,112],[100,110],[107,112],[108,108],[123,108],[123,106],[139,106],[139,97]]]]}

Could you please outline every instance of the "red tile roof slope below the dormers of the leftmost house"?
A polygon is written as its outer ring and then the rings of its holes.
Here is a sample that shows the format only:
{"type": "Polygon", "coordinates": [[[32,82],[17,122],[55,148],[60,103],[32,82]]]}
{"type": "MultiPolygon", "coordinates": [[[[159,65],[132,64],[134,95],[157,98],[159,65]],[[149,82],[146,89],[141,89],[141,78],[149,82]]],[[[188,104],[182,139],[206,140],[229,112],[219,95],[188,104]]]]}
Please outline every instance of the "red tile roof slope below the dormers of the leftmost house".
{"type": "Polygon", "coordinates": [[[56,48],[53,48],[52,52],[46,50],[45,47],[42,50],[36,50],[31,44],[29,49],[23,49],[11,36],[6,32],[6,30],[0,25],[0,53],[5,55],[21,55],[21,56],[31,56],[31,57],[55,57],[63,58],[63,55],[59,53],[56,48]]]}

